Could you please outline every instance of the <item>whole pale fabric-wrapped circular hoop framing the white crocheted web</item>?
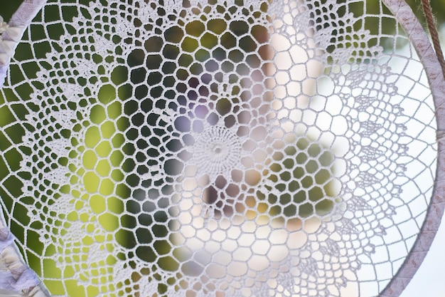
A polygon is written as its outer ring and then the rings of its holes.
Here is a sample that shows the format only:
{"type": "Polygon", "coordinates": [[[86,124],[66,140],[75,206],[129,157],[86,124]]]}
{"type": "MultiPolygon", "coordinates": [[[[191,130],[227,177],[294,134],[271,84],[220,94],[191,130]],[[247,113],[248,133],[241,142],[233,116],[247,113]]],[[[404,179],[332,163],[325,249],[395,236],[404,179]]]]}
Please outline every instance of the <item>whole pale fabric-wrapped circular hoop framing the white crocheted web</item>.
{"type": "MultiPolygon", "coordinates": [[[[399,21],[404,28],[404,31],[409,37],[409,41],[412,42],[412,45],[422,61],[429,80],[431,93],[434,97],[436,122],[438,127],[436,180],[427,217],[422,225],[422,229],[419,231],[419,235],[417,236],[417,240],[412,247],[412,250],[404,261],[404,264],[392,278],[387,287],[380,293],[380,296],[382,297],[395,297],[402,293],[424,260],[424,257],[427,255],[436,231],[439,228],[441,217],[444,214],[445,199],[443,197],[445,197],[445,170],[443,170],[443,168],[445,168],[445,80],[440,71],[441,67],[439,61],[437,61],[427,34],[414,16],[412,9],[410,9],[404,0],[382,0],[382,2],[390,9],[392,14],[396,16],[397,21],[399,21]]],[[[28,24],[31,23],[33,17],[38,14],[38,11],[42,9],[45,3],[46,1],[43,0],[28,0],[23,2],[9,24],[10,28],[18,29],[16,31],[6,31],[3,33],[3,40],[8,43],[8,51],[3,53],[3,57],[6,58],[0,59],[0,83],[3,80],[2,75],[6,75],[6,69],[9,66],[9,58],[14,53],[16,44],[20,41],[28,24]]],[[[215,150],[215,152],[217,151],[215,150]]],[[[220,148],[218,148],[218,153],[220,153],[220,148]]],[[[227,162],[229,161],[231,160],[227,160],[227,162]]],[[[218,168],[216,171],[219,172],[220,169],[218,168]]]]}

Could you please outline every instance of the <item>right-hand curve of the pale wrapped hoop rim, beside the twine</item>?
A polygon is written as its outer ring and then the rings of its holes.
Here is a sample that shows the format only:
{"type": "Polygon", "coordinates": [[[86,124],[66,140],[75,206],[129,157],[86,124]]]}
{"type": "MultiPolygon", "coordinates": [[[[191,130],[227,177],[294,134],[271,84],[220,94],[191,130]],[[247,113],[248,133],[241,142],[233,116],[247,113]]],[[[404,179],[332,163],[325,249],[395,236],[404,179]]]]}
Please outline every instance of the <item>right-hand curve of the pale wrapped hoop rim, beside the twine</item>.
{"type": "Polygon", "coordinates": [[[441,135],[444,135],[443,132],[445,130],[445,80],[444,74],[441,72],[439,60],[427,33],[414,15],[411,7],[404,0],[382,0],[382,2],[402,25],[427,73],[436,109],[438,142],[436,179],[431,201],[427,209],[427,216],[404,263],[395,276],[392,277],[390,283],[380,293],[380,297],[397,297],[407,287],[409,281],[411,281],[417,269],[419,269],[420,264],[424,261],[425,256],[427,256],[444,215],[445,137],[441,135]]]}

